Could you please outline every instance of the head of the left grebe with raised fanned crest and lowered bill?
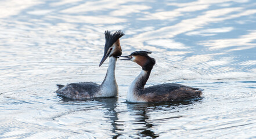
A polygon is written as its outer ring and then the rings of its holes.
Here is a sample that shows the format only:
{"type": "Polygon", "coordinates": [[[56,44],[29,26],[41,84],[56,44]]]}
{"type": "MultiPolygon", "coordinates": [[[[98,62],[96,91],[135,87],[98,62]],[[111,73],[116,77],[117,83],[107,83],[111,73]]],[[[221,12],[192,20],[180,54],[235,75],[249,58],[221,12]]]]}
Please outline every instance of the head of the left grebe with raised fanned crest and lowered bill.
{"type": "Polygon", "coordinates": [[[124,33],[119,30],[114,32],[114,34],[111,34],[110,31],[105,31],[105,38],[106,38],[106,43],[104,47],[104,56],[102,57],[102,60],[100,61],[100,65],[104,63],[104,61],[107,59],[107,57],[118,57],[121,56],[122,54],[122,49],[120,46],[120,41],[119,38],[123,36],[124,33]]]}

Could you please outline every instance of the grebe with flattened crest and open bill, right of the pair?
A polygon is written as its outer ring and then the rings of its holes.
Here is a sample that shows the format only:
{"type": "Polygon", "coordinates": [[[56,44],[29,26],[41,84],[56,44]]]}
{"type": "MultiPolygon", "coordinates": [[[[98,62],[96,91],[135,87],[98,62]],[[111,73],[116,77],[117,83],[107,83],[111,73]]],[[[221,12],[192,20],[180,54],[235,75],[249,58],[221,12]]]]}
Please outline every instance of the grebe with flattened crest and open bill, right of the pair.
{"type": "Polygon", "coordinates": [[[197,88],[179,85],[176,83],[164,83],[161,85],[144,87],[150,72],[156,63],[149,57],[149,51],[136,51],[121,60],[131,60],[142,67],[139,76],[132,82],[128,89],[127,101],[131,103],[157,102],[157,101],[182,101],[201,97],[201,91],[197,88]]]}

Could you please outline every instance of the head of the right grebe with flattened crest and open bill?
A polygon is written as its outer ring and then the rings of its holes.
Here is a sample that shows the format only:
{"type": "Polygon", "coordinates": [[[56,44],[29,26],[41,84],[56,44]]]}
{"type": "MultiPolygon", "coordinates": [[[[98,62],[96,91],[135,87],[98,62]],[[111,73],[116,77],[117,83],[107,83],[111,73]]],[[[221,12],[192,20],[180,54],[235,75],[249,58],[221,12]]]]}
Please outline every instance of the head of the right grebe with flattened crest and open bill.
{"type": "Polygon", "coordinates": [[[124,59],[120,60],[131,60],[142,67],[145,71],[150,71],[154,64],[156,64],[156,60],[154,58],[149,57],[147,54],[150,54],[150,51],[135,51],[131,53],[129,56],[119,56],[125,57],[124,59]]]}

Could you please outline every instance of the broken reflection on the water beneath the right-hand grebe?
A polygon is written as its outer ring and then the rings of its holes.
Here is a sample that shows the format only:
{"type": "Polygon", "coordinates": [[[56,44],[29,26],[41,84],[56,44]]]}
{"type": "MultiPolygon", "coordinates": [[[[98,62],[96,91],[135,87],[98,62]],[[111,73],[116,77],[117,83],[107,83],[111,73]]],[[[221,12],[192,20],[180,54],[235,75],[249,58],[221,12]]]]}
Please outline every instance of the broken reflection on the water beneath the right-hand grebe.
{"type": "MultiPolygon", "coordinates": [[[[172,112],[177,112],[177,107],[186,107],[186,105],[190,105],[195,103],[196,101],[181,101],[181,102],[165,102],[165,103],[143,103],[143,104],[135,104],[135,103],[127,103],[127,108],[131,111],[131,115],[134,116],[135,120],[132,121],[135,125],[138,125],[138,128],[135,128],[133,132],[135,132],[139,137],[150,137],[157,138],[160,136],[158,133],[154,133],[154,129],[157,129],[157,122],[161,120],[171,120],[176,118],[181,118],[181,116],[169,116],[161,118],[151,118],[150,113],[157,112],[165,112],[169,111],[170,114],[172,112]],[[156,127],[154,127],[156,126],[156,127]]],[[[160,114],[161,115],[161,114],[160,114]]],[[[170,130],[170,129],[168,129],[170,130]]]]}

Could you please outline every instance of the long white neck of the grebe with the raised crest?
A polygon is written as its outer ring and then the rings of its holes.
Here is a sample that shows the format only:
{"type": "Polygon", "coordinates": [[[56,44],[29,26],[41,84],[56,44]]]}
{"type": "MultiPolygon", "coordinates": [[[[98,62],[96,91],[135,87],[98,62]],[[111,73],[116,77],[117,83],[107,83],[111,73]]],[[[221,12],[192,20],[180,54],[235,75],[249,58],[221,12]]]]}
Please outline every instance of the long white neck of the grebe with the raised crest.
{"type": "Polygon", "coordinates": [[[115,78],[117,58],[109,57],[109,67],[107,68],[107,74],[105,76],[102,85],[100,85],[101,97],[113,97],[117,96],[118,86],[115,78]]]}

